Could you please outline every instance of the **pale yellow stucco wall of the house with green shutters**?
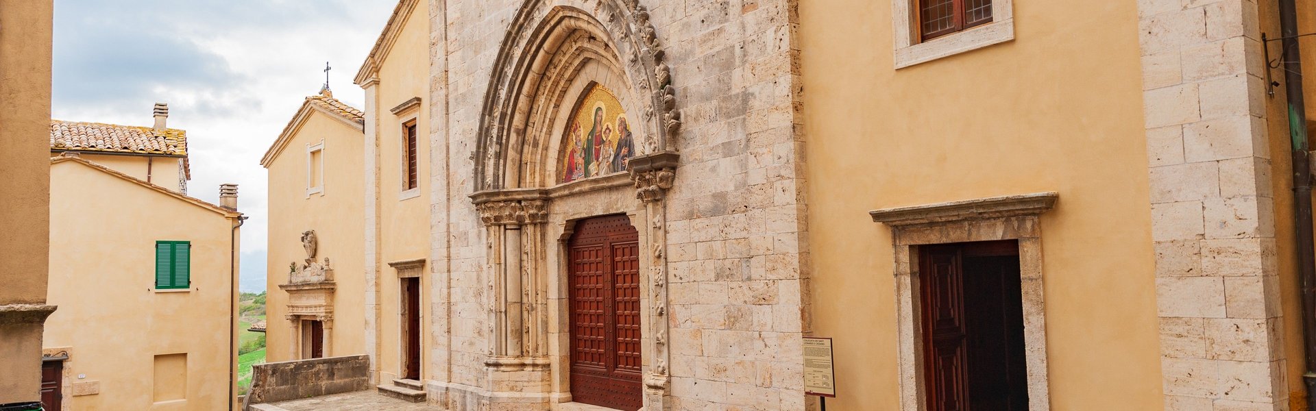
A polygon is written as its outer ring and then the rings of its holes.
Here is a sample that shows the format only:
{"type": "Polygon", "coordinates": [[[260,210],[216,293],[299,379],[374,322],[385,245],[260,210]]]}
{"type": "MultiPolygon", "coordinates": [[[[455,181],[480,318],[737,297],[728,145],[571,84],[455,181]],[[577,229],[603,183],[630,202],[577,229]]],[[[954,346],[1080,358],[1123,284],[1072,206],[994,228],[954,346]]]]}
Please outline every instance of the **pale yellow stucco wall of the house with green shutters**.
{"type": "Polygon", "coordinates": [[[225,410],[234,220],[79,162],[50,173],[50,302],[59,311],[45,346],[71,348],[70,382],[100,382],[100,394],[72,397],[72,410],[225,410]],[[191,241],[190,291],[155,290],[157,240],[191,241]],[[186,400],[153,404],[155,356],[178,353],[187,354],[186,400]]]}

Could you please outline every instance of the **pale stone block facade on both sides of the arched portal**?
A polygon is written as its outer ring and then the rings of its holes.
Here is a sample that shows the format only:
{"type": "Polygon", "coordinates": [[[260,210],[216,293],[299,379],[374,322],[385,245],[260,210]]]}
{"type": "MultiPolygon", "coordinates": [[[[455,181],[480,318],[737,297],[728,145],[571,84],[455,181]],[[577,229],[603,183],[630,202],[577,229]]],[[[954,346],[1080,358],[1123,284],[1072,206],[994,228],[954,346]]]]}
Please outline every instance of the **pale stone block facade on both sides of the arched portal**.
{"type": "MultiPolygon", "coordinates": [[[[426,378],[467,393],[492,386],[484,361],[495,310],[487,231],[467,198],[476,184],[475,136],[490,67],[524,3],[430,5],[429,320],[437,332],[426,378]]],[[[546,0],[587,12],[595,3],[546,0]]],[[[803,410],[809,273],[795,1],[638,3],[663,45],[683,121],[666,202],[670,407],[803,410]]]]}

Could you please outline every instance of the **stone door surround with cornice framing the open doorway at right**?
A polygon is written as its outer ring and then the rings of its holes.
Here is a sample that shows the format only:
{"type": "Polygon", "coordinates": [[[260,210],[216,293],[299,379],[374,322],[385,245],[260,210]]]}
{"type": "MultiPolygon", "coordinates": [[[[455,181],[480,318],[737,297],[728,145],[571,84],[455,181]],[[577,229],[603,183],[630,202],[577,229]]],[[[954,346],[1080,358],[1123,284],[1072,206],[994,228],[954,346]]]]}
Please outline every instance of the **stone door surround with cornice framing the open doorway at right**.
{"type": "Polygon", "coordinates": [[[926,410],[917,291],[919,245],[1000,240],[1019,241],[1028,410],[1050,410],[1040,217],[1058,199],[1057,192],[1038,192],[869,212],[874,221],[891,227],[895,244],[901,411],[926,410]]]}

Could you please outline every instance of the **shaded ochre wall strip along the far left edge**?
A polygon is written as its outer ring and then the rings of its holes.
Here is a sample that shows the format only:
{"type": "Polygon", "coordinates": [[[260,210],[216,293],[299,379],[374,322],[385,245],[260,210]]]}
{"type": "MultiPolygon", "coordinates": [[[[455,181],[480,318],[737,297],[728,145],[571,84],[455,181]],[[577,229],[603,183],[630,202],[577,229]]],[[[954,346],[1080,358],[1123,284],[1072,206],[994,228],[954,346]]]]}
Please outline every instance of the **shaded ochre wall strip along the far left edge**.
{"type": "MultiPolygon", "coordinates": [[[[46,300],[51,0],[0,0],[0,306],[46,300]]],[[[0,404],[39,399],[39,324],[0,325],[0,404]]]]}

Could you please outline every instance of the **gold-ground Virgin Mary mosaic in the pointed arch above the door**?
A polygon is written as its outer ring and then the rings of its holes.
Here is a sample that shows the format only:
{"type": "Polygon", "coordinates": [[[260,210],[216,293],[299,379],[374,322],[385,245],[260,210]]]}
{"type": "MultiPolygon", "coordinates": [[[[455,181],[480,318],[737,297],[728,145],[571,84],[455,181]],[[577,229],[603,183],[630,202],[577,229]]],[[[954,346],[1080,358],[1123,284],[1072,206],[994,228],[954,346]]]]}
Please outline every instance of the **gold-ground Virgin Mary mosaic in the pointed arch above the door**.
{"type": "Polygon", "coordinates": [[[628,170],[636,153],[634,136],[621,103],[603,86],[594,86],[567,125],[562,182],[628,170]]]}

